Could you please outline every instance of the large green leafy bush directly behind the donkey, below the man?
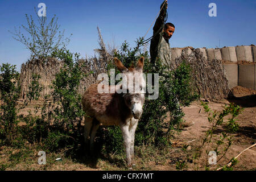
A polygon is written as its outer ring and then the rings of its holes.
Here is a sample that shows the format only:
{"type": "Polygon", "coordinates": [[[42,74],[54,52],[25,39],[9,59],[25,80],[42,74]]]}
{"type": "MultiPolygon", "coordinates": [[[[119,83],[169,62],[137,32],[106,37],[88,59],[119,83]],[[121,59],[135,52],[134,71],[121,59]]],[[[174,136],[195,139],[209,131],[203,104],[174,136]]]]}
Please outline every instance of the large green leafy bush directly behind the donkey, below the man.
{"type": "MultiPolygon", "coordinates": [[[[130,67],[137,64],[139,57],[144,56],[143,73],[146,76],[148,73],[159,74],[159,97],[156,100],[148,100],[148,93],[146,94],[142,117],[135,133],[135,144],[167,146],[170,144],[171,131],[183,122],[184,113],[181,107],[189,106],[199,97],[191,87],[191,68],[185,61],[174,71],[167,71],[167,67],[160,60],[152,65],[148,52],[141,50],[143,39],[137,39],[136,43],[135,48],[130,48],[127,42],[123,43],[121,49],[115,52],[115,57],[121,60],[125,67],[130,67]],[[168,121],[167,116],[170,117],[168,121]]],[[[108,69],[110,68],[115,68],[114,64],[109,64],[108,69]]],[[[119,73],[116,68],[115,73],[119,73]]],[[[101,129],[101,133],[111,138],[111,141],[106,140],[104,144],[108,151],[122,152],[122,135],[118,127],[108,127],[103,131],[101,129]]]]}

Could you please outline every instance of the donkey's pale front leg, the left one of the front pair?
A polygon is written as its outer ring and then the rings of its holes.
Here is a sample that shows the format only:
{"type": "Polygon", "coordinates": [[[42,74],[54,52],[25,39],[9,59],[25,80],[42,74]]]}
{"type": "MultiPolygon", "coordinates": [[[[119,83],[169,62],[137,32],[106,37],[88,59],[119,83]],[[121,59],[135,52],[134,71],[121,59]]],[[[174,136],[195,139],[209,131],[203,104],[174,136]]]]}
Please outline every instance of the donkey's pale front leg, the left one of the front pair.
{"type": "Polygon", "coordinates": [[[129,135],[129,125],[122,124],[122,125],[120,125],[120,128],[121,128],[122,136],[123,136],[123,145],[125,146],[127,166],[129,169],[132,169],[131,156],[130,156],[131,138],[129,135]]]}

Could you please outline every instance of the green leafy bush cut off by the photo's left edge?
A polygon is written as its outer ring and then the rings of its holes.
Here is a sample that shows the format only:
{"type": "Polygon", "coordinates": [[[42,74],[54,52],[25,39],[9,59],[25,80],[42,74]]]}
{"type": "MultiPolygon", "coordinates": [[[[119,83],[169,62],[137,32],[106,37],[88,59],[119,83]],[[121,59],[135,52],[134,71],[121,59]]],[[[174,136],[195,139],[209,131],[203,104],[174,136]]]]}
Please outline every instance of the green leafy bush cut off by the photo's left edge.
{"type": "Polygon", "coordinates": [[[2,64],[0,66],[0,144],[15,145],[19,143],[17,116],[20,84],[19,73],[15,71],[15,65],[2,64]]]}

